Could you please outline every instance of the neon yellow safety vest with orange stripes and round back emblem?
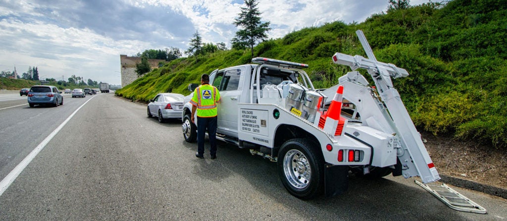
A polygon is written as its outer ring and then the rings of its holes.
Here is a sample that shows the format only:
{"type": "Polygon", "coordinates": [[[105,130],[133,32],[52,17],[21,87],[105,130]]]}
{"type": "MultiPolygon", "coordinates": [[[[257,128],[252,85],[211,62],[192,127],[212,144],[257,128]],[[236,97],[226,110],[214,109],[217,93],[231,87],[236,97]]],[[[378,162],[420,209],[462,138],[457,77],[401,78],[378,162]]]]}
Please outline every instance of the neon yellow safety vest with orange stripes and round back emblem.
{"type": "Polygon", "coordinates": [[[197,117],[216,117],[216,102],[220,100],[220,93],[209,84],[203,84],[194,91],[190,103],[197,106],[197,117]]]}

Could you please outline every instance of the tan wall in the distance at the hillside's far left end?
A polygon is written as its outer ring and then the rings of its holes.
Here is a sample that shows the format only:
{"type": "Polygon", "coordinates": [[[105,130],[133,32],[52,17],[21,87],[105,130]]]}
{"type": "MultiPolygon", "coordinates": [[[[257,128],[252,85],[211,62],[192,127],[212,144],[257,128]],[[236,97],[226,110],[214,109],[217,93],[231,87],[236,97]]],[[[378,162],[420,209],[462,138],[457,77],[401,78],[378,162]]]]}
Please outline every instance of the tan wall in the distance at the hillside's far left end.
{"type": "MultiPolygon", "coordinates": [[[[158,68],[158,64],[160,62],[165,62],[165,60],[159,59],[148,59],[150,63],[151,69],[158,68]]],[[[141,63],[141,58],[139,57],[128,57],[125,54],[120,54],[120,67],[121,67],[121,76],[122,76],[122,87],[134,82],[137,78],[137,73],[135,73],[135,65],[141,63]]]]}

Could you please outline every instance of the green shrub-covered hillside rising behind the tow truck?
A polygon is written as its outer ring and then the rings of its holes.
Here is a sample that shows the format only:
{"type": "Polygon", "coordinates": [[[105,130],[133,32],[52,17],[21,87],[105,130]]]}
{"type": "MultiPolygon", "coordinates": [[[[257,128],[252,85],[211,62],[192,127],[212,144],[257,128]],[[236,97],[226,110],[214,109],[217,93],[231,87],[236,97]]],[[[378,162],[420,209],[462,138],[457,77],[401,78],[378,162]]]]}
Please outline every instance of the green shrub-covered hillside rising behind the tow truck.
{"type": "MultiPolygon", "coordinates": [[[[333,22],[308,27],[255,47],[256,57],[298,63],[310,68],[315,87],[330,87],[350,71],[333,65],[335,52],[366,54],[355,30],[368,38],[379,61],[406,69],[394,79],[419,128],[433,134],[507,144],[507,4],[492,0],[427,3],[375,14],[360,24],[333,22]]],[[[137,79],[116,92],[148,101],[160,92],[189,94],[189,83],[202,73],[249,63],[249,51],[227,50],[183,58],[137,79]]]]}

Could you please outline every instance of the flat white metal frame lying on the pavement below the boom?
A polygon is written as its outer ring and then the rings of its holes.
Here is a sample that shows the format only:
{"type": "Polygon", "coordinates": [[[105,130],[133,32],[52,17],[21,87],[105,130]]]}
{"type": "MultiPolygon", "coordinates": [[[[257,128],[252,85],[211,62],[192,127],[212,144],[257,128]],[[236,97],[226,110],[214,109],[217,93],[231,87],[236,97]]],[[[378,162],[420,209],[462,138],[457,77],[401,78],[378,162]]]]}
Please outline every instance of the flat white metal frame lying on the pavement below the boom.
{"type": "Polygon", "coordinates": [[[486,209],[479,204],[475,203],[472,200],[469,200],[465,196],[456,192],[449,186],[442,184],[440,186],[437,185],[427,185],[422,184],[419,181],[414,181],[417,185],[421,186],[433,196],[440,199],[440,201],[444,202],[446,205],[451,207],[452,209],[464,211],[464,212],[475,212],[475,213],[486,213],[486,209]]]}

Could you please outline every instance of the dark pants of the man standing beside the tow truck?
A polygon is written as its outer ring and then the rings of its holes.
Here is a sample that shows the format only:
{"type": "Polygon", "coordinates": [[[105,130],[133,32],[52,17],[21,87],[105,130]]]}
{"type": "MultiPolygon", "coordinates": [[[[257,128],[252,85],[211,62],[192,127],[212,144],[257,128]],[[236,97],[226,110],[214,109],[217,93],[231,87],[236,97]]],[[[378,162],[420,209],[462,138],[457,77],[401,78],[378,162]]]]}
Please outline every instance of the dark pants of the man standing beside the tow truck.
{"type": "Polygon", "coordinates": [[[197,117],[197,153],[201,156],[204,154],[204,134],[208,131],[209,155],[216,155],[216,117],[201,118],[197,117]]]}

